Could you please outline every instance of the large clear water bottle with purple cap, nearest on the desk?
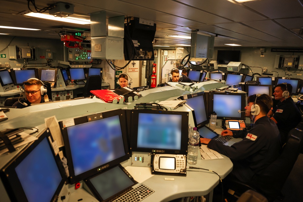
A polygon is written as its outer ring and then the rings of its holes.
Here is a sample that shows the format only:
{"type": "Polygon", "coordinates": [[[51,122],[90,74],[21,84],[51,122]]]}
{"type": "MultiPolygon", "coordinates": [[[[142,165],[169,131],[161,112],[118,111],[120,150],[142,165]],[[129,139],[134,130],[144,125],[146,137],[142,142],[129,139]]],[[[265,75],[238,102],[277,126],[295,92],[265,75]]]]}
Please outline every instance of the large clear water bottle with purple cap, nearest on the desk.
{"type": "Polygon", "coordinates": [[[197,131],[197,128],[194,127],[190,133],[188,139],[188,152],[187,152],[187,163],[197,164],[198,154],[199,154],[199,141],[200,134],[197,131]]]}

